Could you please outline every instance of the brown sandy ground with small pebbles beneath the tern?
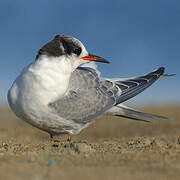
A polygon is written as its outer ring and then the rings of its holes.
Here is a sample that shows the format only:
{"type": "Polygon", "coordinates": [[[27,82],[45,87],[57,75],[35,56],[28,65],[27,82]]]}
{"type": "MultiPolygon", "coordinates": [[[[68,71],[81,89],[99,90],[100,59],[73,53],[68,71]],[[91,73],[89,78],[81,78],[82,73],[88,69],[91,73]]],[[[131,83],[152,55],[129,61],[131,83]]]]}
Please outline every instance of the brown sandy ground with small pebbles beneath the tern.
{"type": "Polygon", "coordinates": [[[69,144],[55,145],[7,108],[0,109],[0,179],[166,180],[180,177],[180,106],[146,108],[171,121],[106,116],[69,144]]]}

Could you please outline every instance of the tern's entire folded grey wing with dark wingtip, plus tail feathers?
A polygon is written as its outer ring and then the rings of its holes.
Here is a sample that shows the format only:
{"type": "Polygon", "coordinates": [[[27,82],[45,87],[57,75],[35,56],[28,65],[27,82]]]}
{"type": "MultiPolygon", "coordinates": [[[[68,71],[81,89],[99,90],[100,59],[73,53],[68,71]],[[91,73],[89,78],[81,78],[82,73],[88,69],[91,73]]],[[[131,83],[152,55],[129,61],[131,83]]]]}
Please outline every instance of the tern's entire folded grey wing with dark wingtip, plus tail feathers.
{"type": "Polygon", "coordinates": [[[164,67],[144,76],[128,79],[100,79],[96,70],[89,67],[77,68],[70,78],[67,93],[49,103],[52,111],[66,120],[77,123],[91,123],[104,113],[130,119],[151,121],[166,117],[149,115],[136,110],[118,107],[120,103],[136,96],[164,75],[164,67]],[[117,109],[118,108],[118,109],[117,109]]]}

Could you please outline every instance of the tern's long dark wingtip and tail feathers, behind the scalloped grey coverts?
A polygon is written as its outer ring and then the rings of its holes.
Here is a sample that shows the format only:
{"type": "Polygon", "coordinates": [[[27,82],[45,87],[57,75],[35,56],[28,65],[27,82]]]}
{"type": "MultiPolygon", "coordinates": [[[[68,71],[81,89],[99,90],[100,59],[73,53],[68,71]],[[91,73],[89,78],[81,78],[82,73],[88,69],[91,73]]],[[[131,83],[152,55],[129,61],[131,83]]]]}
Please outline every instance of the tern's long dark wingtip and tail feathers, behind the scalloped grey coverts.
{"type": "Polygon", "coordinates": [[[136,78],[105,80],[115,83],[115,86],[118,86],[121,91],[121,93],[119,93],[120,95],[116,97],[116,105],[113,106],[106,113],[146,122],[151,122],[153,119],[168,120],[169,118],[167,117],[139,112],[120,103],[144,91],[159,78],[166,78],[173,75],[175,74],[164,74],[164,68],[161,67],[151,73],[136,78]]]}

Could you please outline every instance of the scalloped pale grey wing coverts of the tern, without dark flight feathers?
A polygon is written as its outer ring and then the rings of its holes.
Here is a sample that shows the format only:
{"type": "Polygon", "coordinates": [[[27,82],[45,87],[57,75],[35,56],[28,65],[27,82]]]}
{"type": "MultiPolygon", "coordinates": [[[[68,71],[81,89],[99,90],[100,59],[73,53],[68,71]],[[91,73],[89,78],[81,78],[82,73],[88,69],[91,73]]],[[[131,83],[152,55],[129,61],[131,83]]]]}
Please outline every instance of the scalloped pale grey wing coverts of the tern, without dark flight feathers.
{"type": "Polygon", "coordinates": [[[66,120],[86,124],[116,104],[117,90],[103,85],[94,69],[79,67],[72,73],[67,94],[49,107],[66,120]]]}

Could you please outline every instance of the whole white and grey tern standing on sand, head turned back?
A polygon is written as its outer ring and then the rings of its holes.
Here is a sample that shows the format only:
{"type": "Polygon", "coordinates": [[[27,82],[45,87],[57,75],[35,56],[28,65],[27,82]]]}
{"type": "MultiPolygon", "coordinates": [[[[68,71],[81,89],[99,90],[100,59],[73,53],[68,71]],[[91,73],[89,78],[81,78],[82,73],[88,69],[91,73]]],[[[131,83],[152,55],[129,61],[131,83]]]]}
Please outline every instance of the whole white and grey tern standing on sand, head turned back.
{"type": "Polygon", "coordinates": [[[133,78],[103,78],[91,63],[109,63],[90,54],[74,37],[56,35],[39,49],[34,62],[25,67],[10,87],[7,98],[14,114],[55,135],[80,133],[103,115],[138,121],[169,119],[147,114],[123,103],[151,86],[164,74],[164,67],[133,78]]]}

